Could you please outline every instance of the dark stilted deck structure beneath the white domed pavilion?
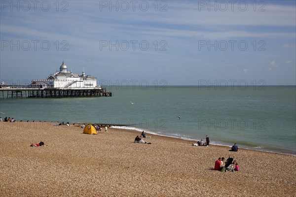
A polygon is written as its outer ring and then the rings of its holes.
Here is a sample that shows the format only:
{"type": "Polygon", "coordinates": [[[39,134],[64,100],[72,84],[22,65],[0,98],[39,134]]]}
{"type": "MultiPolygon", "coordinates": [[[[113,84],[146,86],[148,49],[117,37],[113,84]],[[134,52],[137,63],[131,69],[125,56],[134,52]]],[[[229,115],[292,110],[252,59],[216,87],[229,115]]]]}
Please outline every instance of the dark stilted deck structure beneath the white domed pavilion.
{"type": "Polygon", "coordinates": [[[0,88],[0,99],[11,98],[70,98],[70,97],[112,97],[112,92],[102,89],[55,89],[55,88],[0,88]]]}

